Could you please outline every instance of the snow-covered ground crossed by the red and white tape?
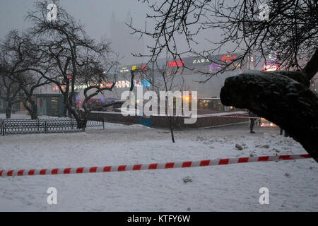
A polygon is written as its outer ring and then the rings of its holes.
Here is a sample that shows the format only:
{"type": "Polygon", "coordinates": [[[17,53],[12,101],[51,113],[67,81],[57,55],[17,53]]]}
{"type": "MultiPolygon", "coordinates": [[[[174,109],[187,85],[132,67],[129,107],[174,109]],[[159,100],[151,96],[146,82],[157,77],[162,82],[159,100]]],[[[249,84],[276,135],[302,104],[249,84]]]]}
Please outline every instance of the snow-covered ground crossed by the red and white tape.
{"type": "MultiPolygon", "coordinates": [[[[3,114],[1,115],[3,117],[3,114]]],[[[13,114],[13,117],[14,114],[13,114]]],[[[19,118],[19,117],[17,117],[19,118]]],[[[28,118],[28,117],[26,117],[28,118]]],[[[0,136],[0,169],[93,167],[304,154],[278,128],[249,124],[175,131],[105,124],[85,133],[0,136]],[[242,150],[235,145],[242,146],[242,150]]],[[[317,211],[314,160],[0,178],[0,211],[317,211]],[[185,183],[188,177],[192,182],[185,183]],[[47,189],[57,189],[57,205],[47,189]],[[269,205],[259,189],[269,189],[269,205]]]]}

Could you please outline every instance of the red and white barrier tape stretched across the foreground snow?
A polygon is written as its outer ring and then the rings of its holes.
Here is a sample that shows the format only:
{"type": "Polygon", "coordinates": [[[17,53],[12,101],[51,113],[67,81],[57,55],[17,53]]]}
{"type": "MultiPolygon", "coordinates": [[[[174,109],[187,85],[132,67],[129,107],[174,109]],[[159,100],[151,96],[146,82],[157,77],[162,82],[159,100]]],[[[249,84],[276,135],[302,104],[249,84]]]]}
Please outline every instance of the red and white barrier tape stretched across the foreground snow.
{"type": "Polygon", "coordinates": [[[0,170],[0,177],[13,176],[34,176],[34,175],[49,175],[49,174],[83,174],[93,172],[120,172],[120,171],[135,171],[143,169],[171,169],[185,167],[206,167],[212,165],[228,165],[245,162],[269,162],[281,160],[298,160],[310,158],[310,155],[273,155],[260,157],[238,157],[224,158],[201,161],[186,161],[186,162],[165,162],[140,165],[118,165],[106,167],[77,167],[77,168],[54,168],[54,169],[17,169],[17,170],[0,170]]]}

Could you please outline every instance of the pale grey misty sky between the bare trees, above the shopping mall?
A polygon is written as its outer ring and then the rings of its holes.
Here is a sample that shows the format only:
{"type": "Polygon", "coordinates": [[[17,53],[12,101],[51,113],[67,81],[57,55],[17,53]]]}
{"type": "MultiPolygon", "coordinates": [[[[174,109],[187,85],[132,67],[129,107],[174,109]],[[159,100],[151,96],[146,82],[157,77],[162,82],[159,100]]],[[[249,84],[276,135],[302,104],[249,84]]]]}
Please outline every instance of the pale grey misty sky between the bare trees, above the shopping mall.
{"type": "MultiPolygon", "coordinates": [[[[34,3],[34,0],[0,1],[1,40],[10,30],[24,30],[32,26],[29,21],[25,20],[25,16],[28,11],[33,11],[34,3]]],[[[61,0],[60,4],[76,20],[85,25],[90,37],[97,41],[105,38],[111,42],[113,51],[117,52],[119,57],[123,57],[120,61],[121,64],[139,64],[148,61],[144,57],[133,57],[131,53],[149,54],[146,46],[151,46],[153,40],[148,37],[139,39],[139,35],[131,35],[131,28],[125,25],[125,23],[130,23],[133,18],[134,27],[143,29],[146,23],[146,13],[152,14],[146,4],[137,0],[61,0]]],[[[148,28],[152,24],[153,21],[147,21],[148,28]]],[[[206,39],[219,40],[220,31],[201,32],[196,38],[199,44],[194,46],[194,49],[198,51],[210,49],[211,46],[206,39]]],[[[177,42],[180,51],[188,49],[187,42],[182,37],[177,37],[177,42]]]]}

